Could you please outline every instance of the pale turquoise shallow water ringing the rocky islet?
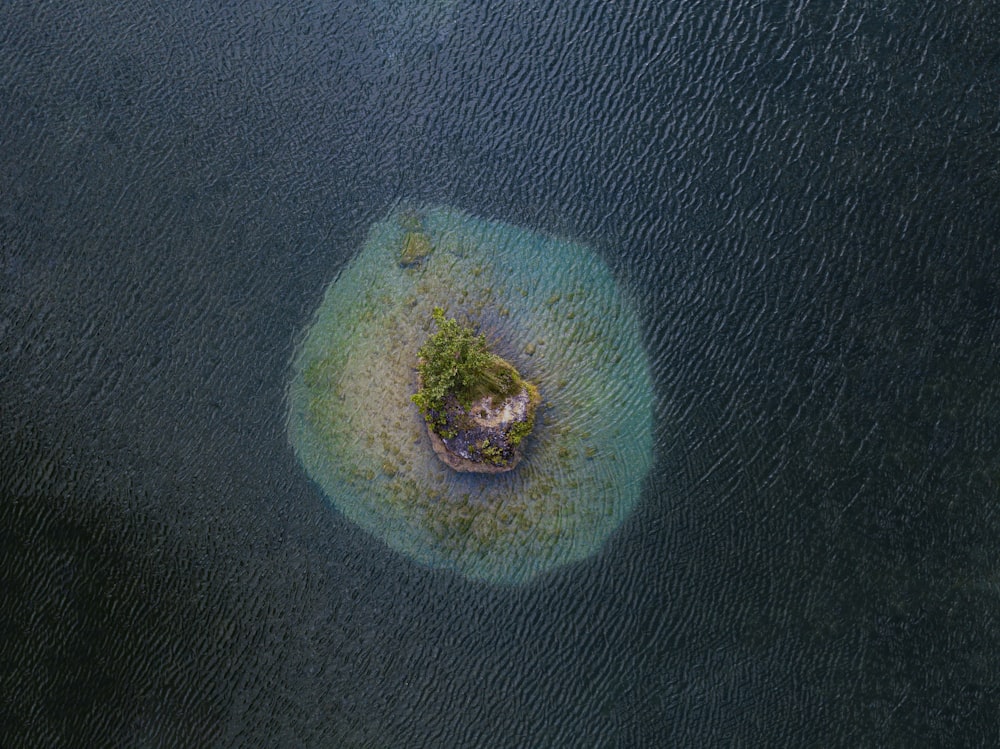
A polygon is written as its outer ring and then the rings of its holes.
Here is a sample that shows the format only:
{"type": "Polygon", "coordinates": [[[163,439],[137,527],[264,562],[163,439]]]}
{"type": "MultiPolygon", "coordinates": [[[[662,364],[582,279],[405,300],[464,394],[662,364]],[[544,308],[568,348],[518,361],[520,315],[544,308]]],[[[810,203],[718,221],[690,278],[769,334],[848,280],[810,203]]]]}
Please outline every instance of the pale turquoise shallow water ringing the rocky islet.
{"type": "Polygon", "coordinates": [[[639,319],[599,255],[449,208],[372,226],[302,339],[288,403],[292,446],[332,505],[418,563],[490,583],[597,552],[652,464],[639,319]],[[415,222],[433,250],[403,263],[415,222]],[[435,306],[474,321],[539,387],[514,471],[460,474],[433,454],[410,396],[435,306]]]}

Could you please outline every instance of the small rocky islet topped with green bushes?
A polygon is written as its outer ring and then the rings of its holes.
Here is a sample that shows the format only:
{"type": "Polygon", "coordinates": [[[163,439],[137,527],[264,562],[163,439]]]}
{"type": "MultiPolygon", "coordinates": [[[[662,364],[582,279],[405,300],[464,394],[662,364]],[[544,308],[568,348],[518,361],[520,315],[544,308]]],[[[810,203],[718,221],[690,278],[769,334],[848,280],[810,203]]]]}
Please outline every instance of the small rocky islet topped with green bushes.
{"type": "Polygon", "coordinates": [[[502,473],[517,466],[534,427],[538,388],[493,353],[486,336],[446,319],[417,352],[420,409],[437,456],[456,471],[502,473]]]}

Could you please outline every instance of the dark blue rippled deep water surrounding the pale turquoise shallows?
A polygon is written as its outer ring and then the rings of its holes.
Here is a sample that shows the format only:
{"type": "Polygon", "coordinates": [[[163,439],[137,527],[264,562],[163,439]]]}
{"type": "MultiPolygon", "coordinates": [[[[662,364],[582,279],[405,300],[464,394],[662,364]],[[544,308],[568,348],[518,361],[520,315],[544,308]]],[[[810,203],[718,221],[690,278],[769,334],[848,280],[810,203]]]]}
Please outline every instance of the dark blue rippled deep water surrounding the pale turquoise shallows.
{"type": "Polygon", "coordinates": [[[1000,742],[998,19],[3,5],[0,744],[1000,742]],[[400,201],[634,295],[598,557],[424,569],[296,463],[296,336],[400,201]]]}

